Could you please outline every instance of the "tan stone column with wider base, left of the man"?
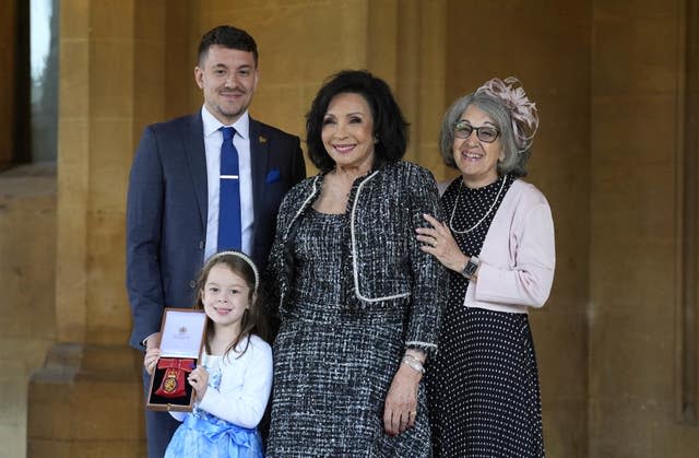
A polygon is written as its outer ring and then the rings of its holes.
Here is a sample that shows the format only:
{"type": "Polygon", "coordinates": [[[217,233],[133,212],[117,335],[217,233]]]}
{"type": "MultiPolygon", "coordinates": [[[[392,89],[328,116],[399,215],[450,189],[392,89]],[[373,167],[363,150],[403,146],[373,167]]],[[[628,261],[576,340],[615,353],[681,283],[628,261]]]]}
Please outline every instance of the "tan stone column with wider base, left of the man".
{"type": "Polygon", "coordinates": [[[142,126],[164,116],[166,2],[60,3],[57,342],[29,381],[28,456],[139,457],[125,199],[142,126]]]}

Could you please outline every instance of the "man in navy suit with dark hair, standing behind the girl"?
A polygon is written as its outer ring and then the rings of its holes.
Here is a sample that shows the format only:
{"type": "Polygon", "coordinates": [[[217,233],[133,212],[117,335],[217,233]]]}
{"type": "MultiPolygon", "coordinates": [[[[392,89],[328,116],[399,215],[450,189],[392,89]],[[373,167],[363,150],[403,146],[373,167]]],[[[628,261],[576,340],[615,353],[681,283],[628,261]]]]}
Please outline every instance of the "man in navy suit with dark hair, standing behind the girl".
{"type": "MultiPolygon", "coordinates": [[[[222,127],[233,127],[239,155],[241,249],[264,269],[276,212],[306,176],[298,137],[248,115],[258,84],[254,39],[233,26],[208,32],[194,79],[201,110],[145,128],[129,178],[127,289],[130,343],[159,345],[164,307],[190,307],[204,260],[217,251],[222,127]]],[[[225,211],[222,209],[221,211],[225,211]]],[[[144,372],[147,390],[150,376],[144,372]]],[[[162,457],[178,426],[167,412],[146,410],[149,456],[162,457]]]]}

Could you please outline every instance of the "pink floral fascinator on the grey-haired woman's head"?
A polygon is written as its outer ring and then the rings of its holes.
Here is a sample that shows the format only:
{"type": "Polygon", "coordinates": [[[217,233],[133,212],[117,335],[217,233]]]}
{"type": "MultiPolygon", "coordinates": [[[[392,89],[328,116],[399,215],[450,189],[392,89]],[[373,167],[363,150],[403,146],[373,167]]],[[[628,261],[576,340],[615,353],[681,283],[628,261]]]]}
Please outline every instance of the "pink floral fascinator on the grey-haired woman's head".
{"type": "Polygon", "coordinates": [[[529,99],[522,83],[514,77],[505,81],[494,78],[478,87],[476,94],[487,94],[502,101],[512,117],[512,130],[518,152],[523,153],[532,146],[534,134],[538,129],[538,111],[536,104],[529,99]]]}

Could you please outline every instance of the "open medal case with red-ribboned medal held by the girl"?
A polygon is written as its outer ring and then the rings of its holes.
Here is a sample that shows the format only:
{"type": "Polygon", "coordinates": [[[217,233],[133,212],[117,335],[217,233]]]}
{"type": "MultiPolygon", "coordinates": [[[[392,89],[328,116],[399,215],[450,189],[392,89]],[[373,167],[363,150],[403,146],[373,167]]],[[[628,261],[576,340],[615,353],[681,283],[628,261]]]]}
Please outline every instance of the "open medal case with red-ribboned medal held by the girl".
{"type": "Polygon", "coordinates": [[[165,308],[161,325],[161,359],[151,377],[146,409],[189,412],[194,404],[187,381],[204,344],[206,314],[191,308],[165,308]]]}

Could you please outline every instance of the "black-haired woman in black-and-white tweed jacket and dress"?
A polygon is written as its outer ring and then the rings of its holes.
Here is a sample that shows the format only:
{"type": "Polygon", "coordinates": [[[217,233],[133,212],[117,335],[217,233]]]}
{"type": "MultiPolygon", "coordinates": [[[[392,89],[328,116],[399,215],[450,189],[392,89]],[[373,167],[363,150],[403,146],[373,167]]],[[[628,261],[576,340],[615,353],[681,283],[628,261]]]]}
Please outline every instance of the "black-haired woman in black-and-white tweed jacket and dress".
{"type": "Polygon", "coordinates": [[[366,71],[329,80],[306,126],[320,174],[285,197],[268,272],[281,318],[268,456],[430,456],[420,380],[446,273],[414,233],[441,213],[435,179],[401,161],[407,124],[366,71]]]}

